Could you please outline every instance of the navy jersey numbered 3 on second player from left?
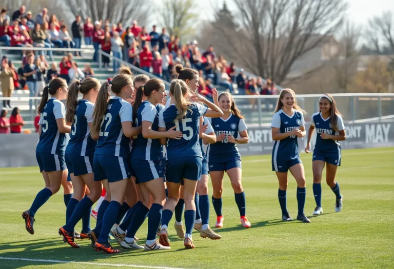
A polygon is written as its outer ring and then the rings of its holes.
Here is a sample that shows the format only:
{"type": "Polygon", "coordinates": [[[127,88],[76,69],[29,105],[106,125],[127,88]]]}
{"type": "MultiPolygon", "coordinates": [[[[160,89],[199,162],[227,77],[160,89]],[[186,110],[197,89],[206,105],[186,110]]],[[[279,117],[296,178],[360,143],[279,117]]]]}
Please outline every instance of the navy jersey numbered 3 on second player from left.
{"type": "Polygon", "coordinates": [[[93,106],[93,103],[88,100],[78,101],[66,154],[93,157],[97,142],[90,136],[88,125],[88,122],[93,122],[93,106]]]}

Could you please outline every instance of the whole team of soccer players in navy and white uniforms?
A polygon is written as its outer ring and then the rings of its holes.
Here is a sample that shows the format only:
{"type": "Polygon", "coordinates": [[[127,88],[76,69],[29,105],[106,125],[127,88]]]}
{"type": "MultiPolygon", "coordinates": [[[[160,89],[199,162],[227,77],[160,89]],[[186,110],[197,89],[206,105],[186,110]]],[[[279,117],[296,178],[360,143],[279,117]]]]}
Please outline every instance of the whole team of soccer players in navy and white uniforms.
{"type": "MultiPolygon", "coordinates": [[[[72,247],[80,247],[75,238],[89,238],[94,250],[119,253],[108,241],[112,237],[124,249],[168,250],[168,225],[175,215],[176,234],[184,240],[186,249],[193,249],[193,229],[203,238],[222,238],[209,226],[208,179],[210,176],[213,188],[215,227],[220,228],[224,223],[225,172],[234,190],[241,224],[245,228],[251,226],[246,217],[237,148],[238,143],[248,142],[244,116],[227,92],[219,94],[214,89],[213,102],[196,93],[197,71],[180,65],[175,70],[178,78],[171,81],[167,101],[162,80],[146,75],[133,77],[127,67],[121,67],[119,74],[103,85],[95,78],[75,80],[69,87],[61,78],[50,81],[38,107],[40,141],[36,148],[45,188],[22,214],[30,234],[34,234],[37,210],[63,185],[66,223],[58,233],[72,247]],[[115,95],[112,98],[110,91],[115,95]],[[83,97],[78,100],[80,93],[83,97]],[[66,100],[66,106],[61,100],[66,100]],[[204,144],[208,145],[206,152],[204,144]],[[91,208],[103,187],[105,199],[97,211],[96,226],[90,229],[91,208]],[[67,201],[66,188],[73,189],[72,195],[67,194],[67,201]],[[148,232],[142,246],[135,235],[146,218],[148,232]],[[83,228],[77,233],[74,228],[81,219],[83,228]]],[[[334,180],[341,163],[338,141],[345,139],[343,120],[332,96],[323,95],[319,105],[320,112],[311,117],[305,149],[309,152],[316,129],[313,194],[317,207],[313,215],[323,213],[321,177],[325,165],[327,184],[336,195],[337,212],[341,211],[343,200],[334,180]]],[[[272,170],[279,180],[282,220],[292,220],[286,208],[290,171],[298,184],[297,219],[310,222],[304,214],[306,183],[298,148],[298,138],[306,135],[305,122],[292,90],[281,92],[271,128],[275,140],[272,170]]]]}

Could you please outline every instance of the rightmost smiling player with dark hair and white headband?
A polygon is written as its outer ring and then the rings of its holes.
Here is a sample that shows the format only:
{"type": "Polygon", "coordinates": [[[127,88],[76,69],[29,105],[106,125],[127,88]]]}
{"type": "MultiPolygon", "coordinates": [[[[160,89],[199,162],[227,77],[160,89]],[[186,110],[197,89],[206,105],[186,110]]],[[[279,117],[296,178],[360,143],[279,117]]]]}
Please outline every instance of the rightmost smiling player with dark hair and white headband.
{"type": "Polygon", "coordinates": [[[310,139],[316,129],[316,144],[313,150],[313,195],[316,200],[316,209],[313,215],[323,214],[322,208],[322,173],[324,165],[326,168],[326,182],[336,196],[335,212],[342,210],[343,196],[335,181],[337,168],[341,165],[341,146],[339,141],[346,139],[345,126],[341,114],[337,110],[334,98],[325,94],[319,99],[320,112],[314,113],[310,118],[308,130],[308,141],[305,152],[310,150],[310,139]]]}

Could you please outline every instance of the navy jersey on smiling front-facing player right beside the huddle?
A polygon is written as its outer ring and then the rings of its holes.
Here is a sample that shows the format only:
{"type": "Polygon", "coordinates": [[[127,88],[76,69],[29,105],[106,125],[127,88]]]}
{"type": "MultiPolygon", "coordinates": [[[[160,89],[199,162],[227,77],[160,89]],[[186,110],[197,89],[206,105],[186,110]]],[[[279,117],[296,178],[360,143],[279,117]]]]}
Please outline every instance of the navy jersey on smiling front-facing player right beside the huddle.
{"type": "MultiPolygon", "coordinates": [[[[232,135],[234,138],[238,138],[238,132],[242,132],[247,129],[245,121],[234,116],[232,113],[227,119],[220,117],[209,118],[208,120],[211,122],[216,136],[225,134],[226,136],[232,135]]],[[[209,144],[207,149],[207,159],[209,162],[226,162],[240,157],[237,144],[228,142],[227,137],[222,141],[209,144]]]]}

